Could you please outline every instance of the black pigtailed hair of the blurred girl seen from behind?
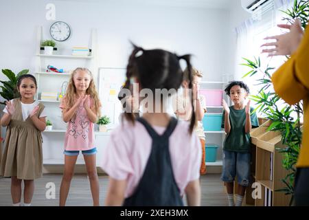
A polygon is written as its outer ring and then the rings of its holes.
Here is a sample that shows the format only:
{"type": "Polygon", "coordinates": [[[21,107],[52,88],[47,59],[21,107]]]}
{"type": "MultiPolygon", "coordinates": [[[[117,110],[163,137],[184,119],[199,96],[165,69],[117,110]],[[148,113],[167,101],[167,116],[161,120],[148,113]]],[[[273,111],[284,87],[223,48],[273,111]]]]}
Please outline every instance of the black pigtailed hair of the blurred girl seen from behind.
{"type": "MultiPolygon", "coordinates": [[[[155,89],[179,89],[183,81],[183,70],[179,63],[184,60],[189,69],[189,89],[192,89],[192,66],[190,63],[190,55],[177,56],[165,50],[144,50],[133,44],[134,50],[128,59],[126,68],[126,83],[123,89],[131,89],[132,77],[136,77],[141,88],[151,89],[155,93],[155,89]],[[141,52],[140,56],[137,54],[141,52]]],[[[194,109],[193,100],[191,100],[192,109],[194,109]]],[[[127,120],[134,123],[135,117],[133,113],[125,112],[124,116],[127,120]]],[[[194,129],[196,115],[192,111],[190,122],[190,133],[194,129]]]]}

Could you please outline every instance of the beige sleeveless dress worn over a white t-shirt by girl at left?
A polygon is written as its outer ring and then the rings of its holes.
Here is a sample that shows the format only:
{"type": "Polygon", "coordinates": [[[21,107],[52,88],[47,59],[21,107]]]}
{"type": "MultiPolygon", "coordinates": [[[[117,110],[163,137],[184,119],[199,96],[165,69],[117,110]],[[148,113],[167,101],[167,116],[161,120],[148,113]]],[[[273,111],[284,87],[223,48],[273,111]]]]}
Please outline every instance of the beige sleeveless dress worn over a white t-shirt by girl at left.
{"type": "MultiPolygon", "coordinates": [[[[20,98],[14,99],[15,112],[6,131],[0,175],[17,179],[37,179],[42,176],[42,135],[28,117],[23,120],[20,98]]],[[[44,105],[38,104],[41,115],[44,105]]]]}

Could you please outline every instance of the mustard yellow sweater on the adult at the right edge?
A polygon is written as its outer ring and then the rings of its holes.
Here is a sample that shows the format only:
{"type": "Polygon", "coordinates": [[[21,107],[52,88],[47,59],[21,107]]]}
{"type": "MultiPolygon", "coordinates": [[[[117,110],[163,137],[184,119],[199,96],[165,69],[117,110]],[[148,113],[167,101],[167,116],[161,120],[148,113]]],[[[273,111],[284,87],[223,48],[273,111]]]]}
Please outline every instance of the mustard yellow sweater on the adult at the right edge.
{"type": "Polygon", "coordinates": [[[276,93],[288,104],[304,100],[304,132],[297,167],[309,167],[309,26],[297,51],[272,76],[276,93]]]}

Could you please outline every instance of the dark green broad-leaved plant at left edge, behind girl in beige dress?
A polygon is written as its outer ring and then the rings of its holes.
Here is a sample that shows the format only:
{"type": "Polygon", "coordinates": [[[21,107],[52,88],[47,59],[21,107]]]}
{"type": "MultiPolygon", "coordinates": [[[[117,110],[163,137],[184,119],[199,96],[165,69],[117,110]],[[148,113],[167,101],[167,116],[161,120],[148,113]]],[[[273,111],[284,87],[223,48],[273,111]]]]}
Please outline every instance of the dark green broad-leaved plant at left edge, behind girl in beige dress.
{"type": "MultiPolygon", "coordinates": [[[[29,72],[29,69],[23,69],[19,74],[14,74],[11,69],[2,69],[2,73],[8,77],[8,81],[1,81],[1,91],[0,95],[5,100],[12,100],[13,98],[19,98],[20,94],[17,90],[17,81],[19,80],[19,77],[27,74],[29,72]]],[[[0,104],[5,104],[5,102],[0,102],[0,104]]]]}

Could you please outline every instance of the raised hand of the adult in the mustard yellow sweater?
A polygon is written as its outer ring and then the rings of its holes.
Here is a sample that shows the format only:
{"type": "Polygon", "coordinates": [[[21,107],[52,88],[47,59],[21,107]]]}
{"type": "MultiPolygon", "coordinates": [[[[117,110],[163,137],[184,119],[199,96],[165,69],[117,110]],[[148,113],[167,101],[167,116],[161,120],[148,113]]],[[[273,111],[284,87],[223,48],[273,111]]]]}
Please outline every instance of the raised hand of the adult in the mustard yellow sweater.
{"type": "Polygon", "coordinates": [[[293,25],[277,25],[279,28],[290,30],[286,34],[277,36],[268,36],[265,40],[274,39],[275,42],[264,43],[261,47],[274,46],[272,49],[264,49],[262,53],[268,53],[268,56],[290,55],[293,54],[304,35],[304,30],[301,28],[301,21],[296,19],[293,25]]]}

